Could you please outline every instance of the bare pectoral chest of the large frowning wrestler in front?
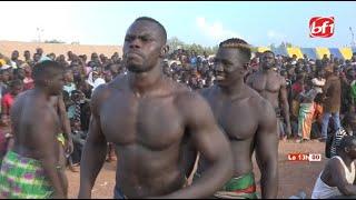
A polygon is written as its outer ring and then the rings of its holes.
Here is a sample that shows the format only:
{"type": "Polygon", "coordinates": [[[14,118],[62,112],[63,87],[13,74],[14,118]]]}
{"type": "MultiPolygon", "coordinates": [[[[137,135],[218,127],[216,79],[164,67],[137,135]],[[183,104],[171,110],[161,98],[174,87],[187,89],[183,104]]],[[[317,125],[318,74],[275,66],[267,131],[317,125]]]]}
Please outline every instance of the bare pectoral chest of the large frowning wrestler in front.
{"type": "Polygon", "coordinates": [[[100,121],[107,140],[118,146],[141,144],[162,150],[179,142],[184,134],[182,120],[172,96],[112,96],[101,106],[100,121]]]}

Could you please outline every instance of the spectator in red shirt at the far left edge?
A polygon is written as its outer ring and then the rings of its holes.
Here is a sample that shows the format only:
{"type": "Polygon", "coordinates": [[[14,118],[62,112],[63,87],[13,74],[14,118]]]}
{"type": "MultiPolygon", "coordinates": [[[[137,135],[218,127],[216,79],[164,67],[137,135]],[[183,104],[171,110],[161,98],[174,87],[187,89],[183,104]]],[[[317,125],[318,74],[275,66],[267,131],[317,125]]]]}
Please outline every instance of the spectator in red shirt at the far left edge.
{"type": "Polygon", "coordinates": [[[14,102],[14,98],[23,90],[23,83],[17,79],[10,82],[10,92],[6,93],[1,99],[1,122],[9,124],[10,109],[14,102]]]}

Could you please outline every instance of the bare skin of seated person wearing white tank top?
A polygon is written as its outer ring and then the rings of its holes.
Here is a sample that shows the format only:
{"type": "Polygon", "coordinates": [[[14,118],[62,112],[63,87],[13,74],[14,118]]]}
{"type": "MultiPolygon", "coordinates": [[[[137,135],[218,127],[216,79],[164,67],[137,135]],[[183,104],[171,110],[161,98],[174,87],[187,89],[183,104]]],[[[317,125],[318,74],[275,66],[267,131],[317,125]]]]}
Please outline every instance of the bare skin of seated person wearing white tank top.
{"type": "MultiPolygon", "coordinates": [[[[346,167],[350,171],[352,162],[356,160],[356,141],[353,141],[353,146],[345,147],[338,151],[338,156],[342,157],[346,167]]],[[[322,173],[322,180],[329,187],[337,187],[344,196],[356,196],[356,179],[354,184],[349,184],[346,180],[345,169],[340,161],[337,159],[330,159],[322,173]]]]}

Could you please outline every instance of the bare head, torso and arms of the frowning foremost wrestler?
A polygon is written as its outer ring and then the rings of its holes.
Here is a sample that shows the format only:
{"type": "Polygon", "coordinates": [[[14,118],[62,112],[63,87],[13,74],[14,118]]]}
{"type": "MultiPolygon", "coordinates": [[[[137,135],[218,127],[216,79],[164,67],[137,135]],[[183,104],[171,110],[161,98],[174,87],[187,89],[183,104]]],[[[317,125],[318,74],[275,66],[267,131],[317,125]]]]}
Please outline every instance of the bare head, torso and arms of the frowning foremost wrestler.
{"type": "Polygon", "coordinates": [[[116,182],[127,198],[204,198],[230,178],[231,151],[208,103],[162,73],[165,43],[162,30],[150,21],[134,22],[127,31],[128,74],[99,86],[92,96],[79,198],[90,198],[107,142],[120,158],[116,182]],[[197,152],[210,166],[184,188],[197,152]]]}

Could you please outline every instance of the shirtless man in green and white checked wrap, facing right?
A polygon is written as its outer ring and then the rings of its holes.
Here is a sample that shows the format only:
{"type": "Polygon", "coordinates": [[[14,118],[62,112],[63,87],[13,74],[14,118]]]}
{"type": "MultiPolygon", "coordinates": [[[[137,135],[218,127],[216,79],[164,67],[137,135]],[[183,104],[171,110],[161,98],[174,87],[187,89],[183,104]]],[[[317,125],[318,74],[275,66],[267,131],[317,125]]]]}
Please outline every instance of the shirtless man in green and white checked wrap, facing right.
{"type": "Polygon", "coordinates": [[[0,170],[0,196],[7,199],[67,198],[67,182],[60,164],[58,133],[61,122],[50,103],[61,93],[63,67],[55,61],[33,68],[34,89],[17,98],[11,109],[13,149],[0,170]]]}

